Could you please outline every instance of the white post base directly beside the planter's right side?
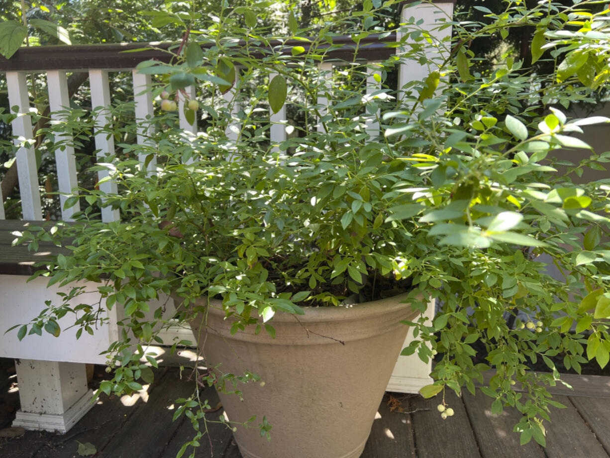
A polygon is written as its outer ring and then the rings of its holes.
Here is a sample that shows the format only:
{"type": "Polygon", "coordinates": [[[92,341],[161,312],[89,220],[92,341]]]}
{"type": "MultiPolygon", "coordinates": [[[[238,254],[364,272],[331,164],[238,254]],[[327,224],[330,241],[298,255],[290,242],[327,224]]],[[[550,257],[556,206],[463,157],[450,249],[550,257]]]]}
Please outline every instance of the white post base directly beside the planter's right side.
{"type": "MultiPolygon", "coordinates": [[[[424,316],[429,319],[434,317],[434,301],[428,305],[428,310],[424,316]]],[[[413,331],[409,329],[403,348],[408,346],[413,340],[413,331]]],[[[417,393],[420,388],[432,383],[430,373],[432,362],[424,363],[415,354],[409,356],[399,356],[390,382],[387,384],[386,391],[396,391],[397,393],[417,393]]]]}

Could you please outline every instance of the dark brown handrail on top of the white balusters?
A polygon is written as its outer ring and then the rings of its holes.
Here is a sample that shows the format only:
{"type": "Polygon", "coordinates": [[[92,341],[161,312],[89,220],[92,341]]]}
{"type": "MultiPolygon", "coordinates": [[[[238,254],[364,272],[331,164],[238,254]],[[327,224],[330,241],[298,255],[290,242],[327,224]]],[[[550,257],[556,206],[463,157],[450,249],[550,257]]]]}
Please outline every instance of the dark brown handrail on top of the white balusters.
{"type": "MultiPolygon", "coordinates": [[[[325,54],[326,59],[352,60],[356,43],[350,35],[332,38],[333,46],[325,54]]],[[[384,60],[395,54],[396,34],[371,34],[362,38],[358,46],[358,57],[365,60],[384,60]]],[[[309,43],[301,40],[279,40],[271,46],[282,45],[281,52],[290,55],[293,46],[303,46],[307,50],[309,43]]],[[[239,42],[237,45],[245,45],[239,42]]],[[[318,45],[318,49],[326,45],[318,45]]],[[[163,50],[176,48],[176,43],[113,43],[102,45],[73,46],[32,46],[20,48],[10,59],[0,56],[0,71],[45,71],[67,70],[86,71],[89,68],[107,70],[130,70],[144,60],[157,59],[168,62],[170,55],[163,50]],[[131,49],[149,48],[144,51],[126,53],[131,49]]],[[[264,54],[261,48],[260,56],[264,54]]],[[[267,48],[268,50],[268,48],[267,48]]]]}

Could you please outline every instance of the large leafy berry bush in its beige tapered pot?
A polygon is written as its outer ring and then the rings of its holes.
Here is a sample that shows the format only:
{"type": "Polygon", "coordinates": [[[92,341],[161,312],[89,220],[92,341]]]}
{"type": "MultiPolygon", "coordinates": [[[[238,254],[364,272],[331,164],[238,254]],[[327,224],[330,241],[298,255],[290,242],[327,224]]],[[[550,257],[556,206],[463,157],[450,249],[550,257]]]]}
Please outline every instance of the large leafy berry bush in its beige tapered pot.
{"type": "MultiPolygon", "coordinates": [[[[366,1],[346,20],[354,53],[398,3],[366,1]]],[[[371,96],[362,95],[371,64],[344,58],[334,70],[320,70],[337,46],[336,23],[304,38],[310,33],[290,13],[290,35],[307,46],[289,43],[285,53],[284,40],[258,29],[251,10],[223,5],[207,32],[187,29],[171,64],[139,66],[165,75],[151,90],[168,114],[151,120],[160,127],[152,141],[126,145],[128,157],[96,165],[109,170],[120,192],[79,189],[66,205],[84,197],[90,206],[75,224],[21,234],[20,242],[73,240],[72,254],[58,256],[43,275],[51,283],[99,283],[104,299],[98,310],[51,305],[29,325],[46,324],[51,332],[58,316],[74,311],[82,331],[104,319],[104,305],[121,307],[126,332],[109,349],[109,365],[118,368],[100,391],[129,392],[140,386],[142,344],[154,340],[167,318],[163,307],[149,310],[149,302],[171,296],[178,305],[174,318],[192,324],[213,366],[199,374],[199,383],[233,393],[222,398],[231,427],[257,427],[235,432],[244,456],[356,457],[408,324],[416,339],[403,354],[436,355],[436,382],[422,389],[424,396],[446,388],[474,392],[475,381],[494,368],[483,388],[495,398],[494,412],[516,407],[523,413],[515,427],[522,441],[544,443],[542,420],[558,404],[544,388],[559,380],[550,357],[564,354],[565,365],[578,370],[584,355],[605,365],[610,350],[608,255],[601,242],[610,221],[608,185],[572,181],[584,168],[600,167],[607,154],[587,154],[562,168],[553,159],[559,148],[588,148],[570,136],[581,126],[608,122],[568,120],[556,107],[591,100],[605,84],[608,10],[595,5],[528,9],[507,2],[506,12],[490,12],[487,23],[454,23],[451,45],[435,43],[434,30],[422,30],[407,13],[398,42],[403,51],[376,67],[382,86],[371,96]],[[535,59],[553,48],[553,75],[527,73],[508,53],[486,75],[471,70],[479,56],[468,43],[525,26],[537,27],[535,59]],[[439,55],[425,53],[428,42],[439,55]],[[392,69],[399,59],[428,59],[428,76],[397,92],[392,69]],[[194,118],[201,109],[203,131],[185,136],[174,101],[184,100],[193,84],[200,101],[185,100],[184,113],[194,118]],[[300,122],[285,128],[298,135],[274,144],[267,103],[277,112],[289,92],[300,122]],[[380,134],[371,133],[373,122],[380,134]],[[102,223],[100,206],[120,209],[121,221],[102,223]],[[547,274],[551,263],[564,277],[547,274]],[[440,304],[432,322],[417,318],[429,298],[440,304]],[[371,299],[381,300],[360,304],[371,299]],[[364,323],[356,324],[361,315],[364,323]],[[373,330],[381,336],[371,336],[373,330]],[[354,344],[357,356],[346,356],[357,335],[364,338],[354,344]],[[475,341],[487,349],[486,363],[474,360],[475,341]],[[253,367],[260,342],[271,353],[253,367]],[[329,359],[320,356],[322,347],[329,359]],[[388,362],[365,355],[364,347],[377,347],[388,362]],[[526,370],[537,358],[550,374],[526,370]],[[338,378],[331,376],[334,368],[338,378]],[[375,394],[370,379],[377,379],[375,394]],[[517,382],[527,394],[515,393],[517,382]],[[354,404],[344,405],[346,391],[361,396],[369,418],[341,416],[354,404]],[[340,397],[331,401],[326,393],[340,397]],[[266,412],[251,410],[257,399],[266,412]],[[306,418],[311,403],[320,410],[306,418]],[[347,438],[353,425],[356,434],[347,438]],[[270,432],[277,434],[270,444],[257,437],[270,432]],[[303,437],[306,432],[315,438],[303,437]]],[[[174,22],[186,17],[156,14],[174,22]]],[[[450,416],[447,407],[442,401],[443,418],[450,416]]],[[[198,420],[208,408],[195,394],[177,415],[191,412],[198,420]]]]}

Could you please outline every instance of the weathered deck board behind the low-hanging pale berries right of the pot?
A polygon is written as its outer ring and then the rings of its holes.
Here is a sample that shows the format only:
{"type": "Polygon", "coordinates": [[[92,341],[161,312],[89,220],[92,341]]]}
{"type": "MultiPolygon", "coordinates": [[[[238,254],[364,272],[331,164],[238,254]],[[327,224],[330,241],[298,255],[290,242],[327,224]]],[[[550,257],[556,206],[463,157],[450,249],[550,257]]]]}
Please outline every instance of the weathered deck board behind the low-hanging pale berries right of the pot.
{"type": "MultiPolygon", "coordinates": [[[[454,416],[443,420],[436,406],[442,398],[411,398],[415,451],[418,458],[476,458],[480,457],[475,435],[470,427],[462,400],[447,392],[445,400],[454,416]]],[[[380,452],[382,453],[382,452],[380,452]]]]}

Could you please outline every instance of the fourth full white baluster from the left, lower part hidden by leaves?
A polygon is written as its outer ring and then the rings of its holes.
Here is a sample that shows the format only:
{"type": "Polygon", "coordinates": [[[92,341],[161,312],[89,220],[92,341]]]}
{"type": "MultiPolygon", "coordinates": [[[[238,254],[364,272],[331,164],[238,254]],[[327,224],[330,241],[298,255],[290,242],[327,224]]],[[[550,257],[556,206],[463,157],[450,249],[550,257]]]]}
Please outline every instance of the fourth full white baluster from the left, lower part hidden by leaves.
{"type": "MultiPolygon", "coordinates": [[[[137,70],[132,70],[132,78],[134,81],[135,122],[138,145],[151,144],[151,119],[154,116],[154,107],[152,106],[151,76],[146,75],[145,73],[138,73],[137,70]]],[[[148,154],[148,152],[138,154],[138,160],[144,164],[148,154]]],[[[154,173],[156,170],[156,165],[157,158],[155,157],[148,162],[148,167],[146,167],[148,172],[154,173]]]]}

